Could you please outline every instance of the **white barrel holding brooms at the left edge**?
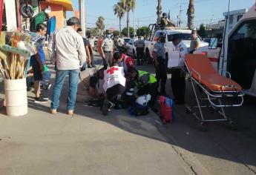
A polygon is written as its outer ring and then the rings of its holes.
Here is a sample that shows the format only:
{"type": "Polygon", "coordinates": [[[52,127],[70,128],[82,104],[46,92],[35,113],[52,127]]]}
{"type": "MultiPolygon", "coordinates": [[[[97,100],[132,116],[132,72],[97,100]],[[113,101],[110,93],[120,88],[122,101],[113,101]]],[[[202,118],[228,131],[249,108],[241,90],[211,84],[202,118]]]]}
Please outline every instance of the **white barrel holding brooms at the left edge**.
{"type": "Polygon", "coordinates": [[[4,79],[7,116],[27,114],[26,79],[4,79]]]}

